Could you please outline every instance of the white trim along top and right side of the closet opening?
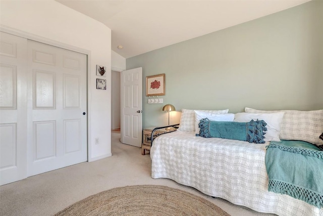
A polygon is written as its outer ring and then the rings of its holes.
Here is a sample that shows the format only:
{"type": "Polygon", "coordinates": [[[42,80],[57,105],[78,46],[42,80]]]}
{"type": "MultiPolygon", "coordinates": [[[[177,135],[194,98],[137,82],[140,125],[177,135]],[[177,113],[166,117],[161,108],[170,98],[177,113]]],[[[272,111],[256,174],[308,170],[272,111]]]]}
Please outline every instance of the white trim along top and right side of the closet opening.
{"type": "Polygon", "coordinates": [[[37,42],[41,42],[43,44],[47,44],[47,45],[51,45],[54,47],[58,47],[58,48],[62,48],[65,50],[70,50],[70,51],[74,51],[77,53],[82,53],[85,54],[87,56],[87,95],[86,95],[86,104],[87,104],[87,161],[89,162],[90,158],[89,155],[91,155],[91,145],[89,145],[89,143],[91,143],[91,104],[89,103],[89,101],[91,101],[91,73],[89,73],[89,71],[91,71],[91,51],[89,50],[85,50],[79,47],[75,47],[72,45],[68,45],[68,44],[64,44],[62,42],[56,41],[56,40],[52,40],[49,38],[45,38],[39,35],[35,35],[35,34],[31,34],[25,31],[21,31],[19,29],[15,29],[9,26],[4,26],[4,25],[0,25],[0,31],[8,33],[8,34],[13,34],[19,37],[23,37],[26,39],[30,39],[30,40],[34,40],[37,42]]]}

